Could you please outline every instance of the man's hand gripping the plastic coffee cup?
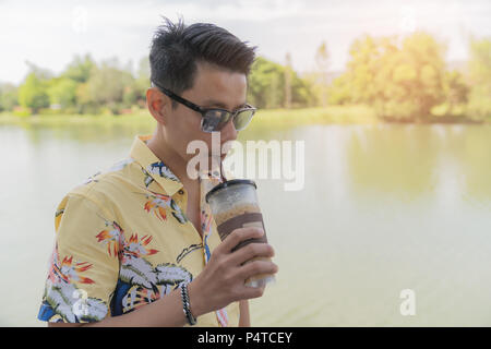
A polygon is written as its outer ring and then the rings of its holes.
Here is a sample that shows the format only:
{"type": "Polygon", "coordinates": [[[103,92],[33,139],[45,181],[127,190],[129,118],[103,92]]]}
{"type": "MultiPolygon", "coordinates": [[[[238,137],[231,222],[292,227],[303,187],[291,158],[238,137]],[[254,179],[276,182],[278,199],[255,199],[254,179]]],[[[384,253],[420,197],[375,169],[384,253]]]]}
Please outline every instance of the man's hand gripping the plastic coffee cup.
{"type": "Polygon", "coordinates": [[[246,279],[258,274],[276,274],[278,266],[270,261],[253,261],[253,257],[272,257],[273,248],[267,243],[250,243],[235,252],[240,242],[258,239],[264,234],[260,228],[233,230],[212,253],[203,272],[189,284],[190,308],[194,316],[221,309],[231,302],[259,298],[264,287],[244,285],[246,279]]]}

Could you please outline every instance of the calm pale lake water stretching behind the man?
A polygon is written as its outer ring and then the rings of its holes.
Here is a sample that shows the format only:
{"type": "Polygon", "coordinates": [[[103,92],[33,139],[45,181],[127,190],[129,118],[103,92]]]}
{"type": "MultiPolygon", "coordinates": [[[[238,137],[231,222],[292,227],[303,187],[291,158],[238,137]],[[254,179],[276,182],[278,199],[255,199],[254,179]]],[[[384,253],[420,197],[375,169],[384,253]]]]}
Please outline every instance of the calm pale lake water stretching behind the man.
{"type": "MultiPolygon", "coordinates": [[[[125,157],[148,127],[0,125],[0,325],[36,316],[55,209],[125,157]]],[[[310,125],[240,140],[303,140],[306,182],[256,180],[277,281],[256,326],[491,326],[491,127],[310,125]],[[403,290],[415,294],[402,315],[403,290]]]]}

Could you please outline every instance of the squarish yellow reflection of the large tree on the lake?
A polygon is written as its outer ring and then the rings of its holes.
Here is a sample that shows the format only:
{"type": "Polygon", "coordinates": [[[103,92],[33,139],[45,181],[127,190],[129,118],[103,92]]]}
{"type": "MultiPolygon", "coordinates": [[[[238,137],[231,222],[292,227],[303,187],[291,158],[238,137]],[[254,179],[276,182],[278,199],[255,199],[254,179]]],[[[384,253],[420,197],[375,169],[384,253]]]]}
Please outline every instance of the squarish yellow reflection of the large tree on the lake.
{"type": "Polygon", "coordinates": [[[357,129],[348,140],[348,180],[356,191],[392,193],[402,198],[424,194],[438,181],[439,140],[429,128],[357,129]]]}

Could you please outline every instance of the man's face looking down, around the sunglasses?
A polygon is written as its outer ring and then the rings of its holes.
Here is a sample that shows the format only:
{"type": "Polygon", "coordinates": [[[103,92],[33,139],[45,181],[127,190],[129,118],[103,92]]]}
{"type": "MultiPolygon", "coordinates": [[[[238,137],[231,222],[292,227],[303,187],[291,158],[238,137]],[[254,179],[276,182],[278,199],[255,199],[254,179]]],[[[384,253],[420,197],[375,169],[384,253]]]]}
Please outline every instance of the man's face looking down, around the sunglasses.
{"type": "MultiPolygon", "coordinates": [[[[202,108],[223,108],[229,111],[239,109],[246,104],[247,79],[242,73],[221,70],[207,63],[197,63],[197,72],[192,88],[182,93],[181,97],[202,108]]],[[[188,144],[195,140],[204,141],[212,152],[212,133],[201,130],[201,113],[178,104],[170,110],[165,128],[169,145],[187,163],[195,154],[187,154],[188,144]]],[[[227,141],[235,141],[237,131],[229,121],[220,130],[220,148],[227,141]]],[[[209,153],[211,154],[211,153],[209,153]]],[[[221,155],[221,159],[226,155],[221,155]]]]}

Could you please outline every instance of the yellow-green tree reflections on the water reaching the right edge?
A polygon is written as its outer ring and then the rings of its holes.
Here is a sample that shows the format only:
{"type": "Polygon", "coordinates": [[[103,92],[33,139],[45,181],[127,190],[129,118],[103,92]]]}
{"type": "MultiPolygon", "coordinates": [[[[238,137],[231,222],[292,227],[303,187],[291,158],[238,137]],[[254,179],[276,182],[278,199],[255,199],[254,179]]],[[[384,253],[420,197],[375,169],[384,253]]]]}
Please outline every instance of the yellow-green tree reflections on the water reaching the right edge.
{"type": "Polygon", "coordinates": [[[347,144],[357,191],[415,198],[453,181],[462,195],[491,198],[491,128],[405,125],[359,128],[347,144]]]}

